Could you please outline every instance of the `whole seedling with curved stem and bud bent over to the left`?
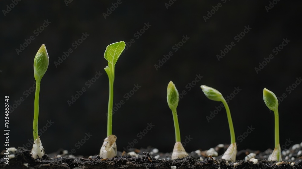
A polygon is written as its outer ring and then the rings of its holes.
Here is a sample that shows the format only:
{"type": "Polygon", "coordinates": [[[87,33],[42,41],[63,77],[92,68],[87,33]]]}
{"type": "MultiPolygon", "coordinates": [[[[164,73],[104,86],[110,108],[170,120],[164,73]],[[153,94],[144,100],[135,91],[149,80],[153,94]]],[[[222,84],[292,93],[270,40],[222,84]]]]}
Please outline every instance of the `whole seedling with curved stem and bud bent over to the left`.
{"type": "Polygon", "coordinates": [[[227,161],[236,161],[237,145],[235,142],[235,132],[234,132],[230,108],[227,105],[226,100],[223,98],[222,94],[219,91],[217,91],[214,88],[208,87],[206,85],[201,85],[200,87],[204,92],[204,95],[206,95],[208,99],[214,101],[221,101],[226,109],[227,120],[229,122],[229,128],[230,128],[231,144],[227,148],[226,152],[224,152],[221,158],[224,158],[227,161]]]}

